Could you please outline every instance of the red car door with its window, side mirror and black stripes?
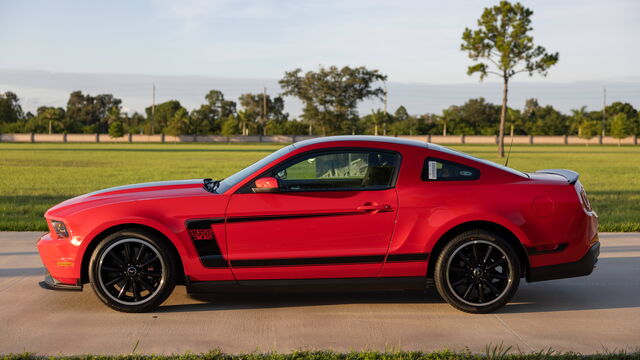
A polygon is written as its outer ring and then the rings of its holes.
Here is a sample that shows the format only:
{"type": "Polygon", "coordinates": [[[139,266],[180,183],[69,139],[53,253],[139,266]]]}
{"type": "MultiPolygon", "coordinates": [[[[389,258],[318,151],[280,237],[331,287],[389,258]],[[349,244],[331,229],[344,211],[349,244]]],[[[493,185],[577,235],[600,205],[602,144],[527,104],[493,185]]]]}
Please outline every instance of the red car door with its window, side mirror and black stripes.
{"type": "MultiPolygon", "coordinates": [[[[259,177],[227,207],[228,257],[238,280],[375,277],[393,233],[400,166],[396,152],[313,151],[259,177]]],[[[254,179],[255,180],[255,179],[254,179]]]]}

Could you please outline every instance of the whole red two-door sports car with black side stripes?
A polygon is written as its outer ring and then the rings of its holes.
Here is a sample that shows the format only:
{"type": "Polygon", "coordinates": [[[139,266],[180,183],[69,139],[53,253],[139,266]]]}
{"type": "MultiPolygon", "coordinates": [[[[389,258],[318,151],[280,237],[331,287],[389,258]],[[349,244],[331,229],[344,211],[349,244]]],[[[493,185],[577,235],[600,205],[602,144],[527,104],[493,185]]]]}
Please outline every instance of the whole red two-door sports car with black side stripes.
{"type": "Polygon", "coordinates": [[[54,289],[91,283],[141,312],[175,285],[423,289],[496,310],[521,278],[588,275],[598,218],[578,174],[523,173],[442,146],[337,136],[286,146],[223,180],[120,186],[45,214],[38,241],[54,289]]]}

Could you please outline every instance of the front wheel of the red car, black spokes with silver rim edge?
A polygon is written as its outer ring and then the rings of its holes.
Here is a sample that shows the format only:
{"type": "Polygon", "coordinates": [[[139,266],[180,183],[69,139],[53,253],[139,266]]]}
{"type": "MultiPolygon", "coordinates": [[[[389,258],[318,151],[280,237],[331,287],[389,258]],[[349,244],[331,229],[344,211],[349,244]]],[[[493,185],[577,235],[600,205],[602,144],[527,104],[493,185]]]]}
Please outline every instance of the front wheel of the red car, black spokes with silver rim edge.
{"type": "Polygon", "coordinates": [[[176,285],[176,262],[167,245],[144,230],[121,230],[104,238],[89,262],[98,298],[123,312],[151,311],[176,285]]]}

